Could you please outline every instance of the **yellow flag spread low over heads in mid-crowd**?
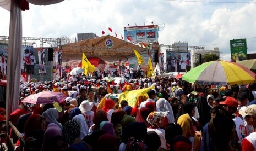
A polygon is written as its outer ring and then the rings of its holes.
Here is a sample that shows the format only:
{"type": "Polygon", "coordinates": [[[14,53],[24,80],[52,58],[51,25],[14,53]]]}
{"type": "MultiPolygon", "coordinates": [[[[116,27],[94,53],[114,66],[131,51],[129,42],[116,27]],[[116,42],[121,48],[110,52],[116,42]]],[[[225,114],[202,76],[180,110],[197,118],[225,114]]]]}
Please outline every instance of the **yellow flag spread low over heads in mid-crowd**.
{"type": "Polygon", "coordinates": [[[129,106],[132,107],[134,105],[134,103],[136,102],[137,97],[140,94],[146,94],[146,92],[148,92],[150,89],[154,89],[154,88],[155,88],[155,86],[150,86],[149,88],[145,88],[145,89],[125,91],[121,94],[118,94],[119,101],[126,100],[129,104],[129,106]]]}

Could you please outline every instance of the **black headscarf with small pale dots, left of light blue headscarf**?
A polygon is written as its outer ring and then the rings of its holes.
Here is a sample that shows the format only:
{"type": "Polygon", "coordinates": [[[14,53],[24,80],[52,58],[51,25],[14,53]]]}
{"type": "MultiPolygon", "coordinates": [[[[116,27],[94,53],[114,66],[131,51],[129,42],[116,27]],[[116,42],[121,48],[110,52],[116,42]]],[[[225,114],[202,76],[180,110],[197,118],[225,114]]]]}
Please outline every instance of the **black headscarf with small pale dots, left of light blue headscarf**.
{"type": "Polygon", "coordinates": [[[73,144],[75,138],[78,138],[80,135],[80,124],[75,120],[67,121],[62,130],[62,136],[68,142],[68,144],[73,144]]]}

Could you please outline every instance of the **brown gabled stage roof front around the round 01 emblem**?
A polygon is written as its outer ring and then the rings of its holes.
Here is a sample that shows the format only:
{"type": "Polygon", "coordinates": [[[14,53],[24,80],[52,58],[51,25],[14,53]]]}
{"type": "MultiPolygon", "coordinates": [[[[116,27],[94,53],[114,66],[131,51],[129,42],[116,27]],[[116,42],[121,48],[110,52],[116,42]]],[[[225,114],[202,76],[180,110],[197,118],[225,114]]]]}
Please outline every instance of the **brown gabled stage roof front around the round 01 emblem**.
{"type": "Polygon", "coordinates": [[[69,43],[62,46],[62,55],[81,55],[85,53],[87,57],[125,57],[134,56],[133,49],[139,53],[145,51],[143,47],[133,43],[126,42],[122,39],[106,35],[95,39],[87,39],[77,43],[69,43]],[[111,39],[113,46],[108,48],[106,40],[111,39]]]}

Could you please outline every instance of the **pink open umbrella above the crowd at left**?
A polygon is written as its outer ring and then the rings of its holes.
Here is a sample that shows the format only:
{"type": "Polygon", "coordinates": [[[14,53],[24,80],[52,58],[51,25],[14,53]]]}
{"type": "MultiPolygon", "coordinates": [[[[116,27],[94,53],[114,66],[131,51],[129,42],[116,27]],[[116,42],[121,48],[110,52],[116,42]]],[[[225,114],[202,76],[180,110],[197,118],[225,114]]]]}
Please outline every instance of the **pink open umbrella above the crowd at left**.
{"type": "Polygon", "coordinates": [[[66,97],[67,96],[62,94],[62,92],[43,91],[39,92],[38,94],[29,95],[21,102],[33,104],[49,104],[55,101],[57,103],[62,103],[66,97]]]}

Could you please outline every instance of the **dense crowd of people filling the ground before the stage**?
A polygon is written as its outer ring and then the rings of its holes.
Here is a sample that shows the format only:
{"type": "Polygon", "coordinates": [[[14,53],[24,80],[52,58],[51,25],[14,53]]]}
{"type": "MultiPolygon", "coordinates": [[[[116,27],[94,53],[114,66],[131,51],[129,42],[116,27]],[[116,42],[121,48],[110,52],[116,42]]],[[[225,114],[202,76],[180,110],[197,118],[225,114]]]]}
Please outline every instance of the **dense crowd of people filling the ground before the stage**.
{"type": "Polygon", "coordinates": [[[22,83],[19,108],[9,120],[28,150],[256,150],[255,83],[199,85],[156,77],[129,84],[150,89],[131,103],[119,100],[122,84],[107,80],[22,83]],[[67,96],[60,112],[53,104],[21,102],[41,91],[67,96]]]}

